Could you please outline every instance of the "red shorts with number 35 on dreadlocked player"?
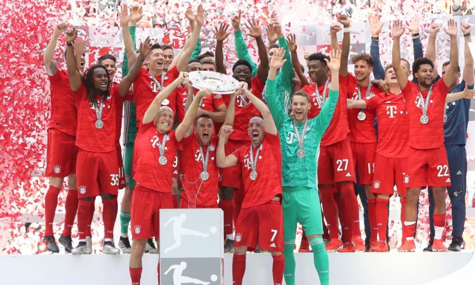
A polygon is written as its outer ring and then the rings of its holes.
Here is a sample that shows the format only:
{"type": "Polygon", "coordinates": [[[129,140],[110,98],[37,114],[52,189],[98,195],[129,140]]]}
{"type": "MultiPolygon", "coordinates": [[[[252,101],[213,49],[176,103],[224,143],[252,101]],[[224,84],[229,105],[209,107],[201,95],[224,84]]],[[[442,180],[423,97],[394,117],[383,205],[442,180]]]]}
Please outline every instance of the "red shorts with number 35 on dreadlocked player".
{"type": "Polygon", "coordinates": [[[120,185],[117,150],[91,152],[80,149],[76,170],[79,198],[117,195],[120,185]]]}

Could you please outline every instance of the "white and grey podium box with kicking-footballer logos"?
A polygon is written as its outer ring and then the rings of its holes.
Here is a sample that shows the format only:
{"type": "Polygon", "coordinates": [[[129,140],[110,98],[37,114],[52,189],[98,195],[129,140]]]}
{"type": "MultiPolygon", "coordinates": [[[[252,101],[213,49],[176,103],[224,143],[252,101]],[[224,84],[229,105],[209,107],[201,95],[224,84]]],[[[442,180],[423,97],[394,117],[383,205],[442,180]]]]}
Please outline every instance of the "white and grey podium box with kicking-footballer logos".
{"type": "Polygon", "coordinates": [[[160,284],[224,285],[221,209],[160,209],[160,284]]]}

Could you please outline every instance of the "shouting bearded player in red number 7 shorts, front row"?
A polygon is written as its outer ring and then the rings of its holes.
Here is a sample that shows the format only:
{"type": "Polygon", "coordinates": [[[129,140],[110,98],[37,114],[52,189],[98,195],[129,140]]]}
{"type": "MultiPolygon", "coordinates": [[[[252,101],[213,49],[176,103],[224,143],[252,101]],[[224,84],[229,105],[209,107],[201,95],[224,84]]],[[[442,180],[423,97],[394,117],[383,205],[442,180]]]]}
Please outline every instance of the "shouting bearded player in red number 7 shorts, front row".
{"type": "MultiPolygon", "coordinates": [[[[272,67],[271,67],[272,68],[272,67]]],[[[259,110],[262,117],[249,120],[247,133],[251,140],[232,154],[225,154],[225,143],[233,132],[232,126],[221,129],[216,155],[219,167],[238,165],[244,184],[244,200],[236,222],[236,242],[233,255],[233,284],[241,285],[246,268],[246,252],[257,243],[271,252],[274,285],[282,284],[284,274],[284,234],[282,217],[282,154],[279,136],[266,104],[241,85],[238,91],[259,110]]],[[[238,94],[233,94],[233,102],[238,94]]],[[[227,120],[233,121],[234,110],[228,111],[227,120]]]]}

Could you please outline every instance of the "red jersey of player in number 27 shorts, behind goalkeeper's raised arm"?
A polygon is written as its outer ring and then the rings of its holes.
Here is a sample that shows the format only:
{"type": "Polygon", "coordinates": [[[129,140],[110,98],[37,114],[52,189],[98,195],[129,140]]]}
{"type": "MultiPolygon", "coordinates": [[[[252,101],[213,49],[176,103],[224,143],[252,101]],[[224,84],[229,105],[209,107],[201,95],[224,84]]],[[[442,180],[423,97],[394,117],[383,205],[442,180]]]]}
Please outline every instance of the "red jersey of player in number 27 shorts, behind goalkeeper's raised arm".
{"type": "MultiPolygon", "coordinates": [[[[322,137],[320,145],[330,145],[335,142],[344,140],[350,130],[348,129],[348,120],[346,119],[346,78],[338,75],[339,91],[338,102],[336,102],[335,111],[333,113],[332,121],[327,128],[327,131],[322,137]]],[[[302,91],[306,92],[310,96],[310,110],[308,111],[307,118],[312,119],[320,114],[322,106],[319,105],[317,100],[317,94],[315,93],[316,83],[306,85],[302,88],[302,91]]],[[[325,86],[319,86],[318,92],[323,95],[325,86]]],[[[330,92],[330,83],[327,88],[326,97],[328,98],[330,92]]]]}

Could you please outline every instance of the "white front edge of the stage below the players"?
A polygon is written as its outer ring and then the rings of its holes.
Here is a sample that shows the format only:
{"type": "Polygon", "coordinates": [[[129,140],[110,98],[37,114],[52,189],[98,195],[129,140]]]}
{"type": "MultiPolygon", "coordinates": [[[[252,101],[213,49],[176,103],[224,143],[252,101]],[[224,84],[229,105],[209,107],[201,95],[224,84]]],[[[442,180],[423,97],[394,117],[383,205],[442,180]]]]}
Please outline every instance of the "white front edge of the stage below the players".
{"type": "MultiPolygon", "coordinates": [[[[330,253],[329,256],[331,285],[447,285],[456,281],[468,284],[473,282],[475,272],[473,252],[362,252],[330,253]]],[[[225,254],[225,285],[233,284],[232,257],[225,254]]],[[[312,253],[296,253],[295,257],[296,284],[319,285],[312,253]]],[[[142,285],[157,284],[157,263],[158,255],[143,256],[142,285]]],[[[271,266],[270,254],[247,254],[243,285],[271,285],[271,266]]],[[[0,269],[1,284],[131,284],[129,255],[0,255],[0,269]]],[[[186,276],[186,270],[183,275],[186,276]]]]}

